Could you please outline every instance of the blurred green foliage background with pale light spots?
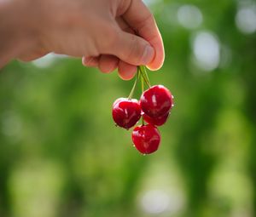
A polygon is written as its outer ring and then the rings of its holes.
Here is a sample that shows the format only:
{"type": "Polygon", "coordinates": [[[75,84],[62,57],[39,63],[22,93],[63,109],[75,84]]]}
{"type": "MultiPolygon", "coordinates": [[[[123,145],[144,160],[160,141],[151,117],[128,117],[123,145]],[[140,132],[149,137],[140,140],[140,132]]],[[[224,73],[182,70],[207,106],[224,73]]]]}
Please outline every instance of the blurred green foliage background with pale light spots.
{"type": "MultiPolygon", "coordinates": [[[[0,73],[1,217],[256,215],[255,1],[146,1],[175,107],[139,154],[111,107],[133,81],[49,54],[0,73]]],[[[137,96],[140,90],[137,89],[137,96]]]]}

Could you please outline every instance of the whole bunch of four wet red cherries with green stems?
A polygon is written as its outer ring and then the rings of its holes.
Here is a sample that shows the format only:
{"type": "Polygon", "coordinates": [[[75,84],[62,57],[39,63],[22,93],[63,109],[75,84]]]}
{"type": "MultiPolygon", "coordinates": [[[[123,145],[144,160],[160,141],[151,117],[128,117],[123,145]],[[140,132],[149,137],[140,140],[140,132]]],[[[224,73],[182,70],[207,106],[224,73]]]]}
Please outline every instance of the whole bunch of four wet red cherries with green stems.
{"type": "Polygon", "coordinates": [[[128,98],[113,102],[113,121],[121,128],[134,127],[142,117],[142,125],[135,127],[131,138],[134,146],[143,154],[150,154],[160,146],[160,132],[157,126],[166,123],[173,106],[173,96],[163,85],[151,86],[144,66],[137,67],[137,77],[128,98]],[[140,100],[132,99],[138,80],[142,82],[140,100]],[[144,84],[148,89],[144,91],[144,84]]]}

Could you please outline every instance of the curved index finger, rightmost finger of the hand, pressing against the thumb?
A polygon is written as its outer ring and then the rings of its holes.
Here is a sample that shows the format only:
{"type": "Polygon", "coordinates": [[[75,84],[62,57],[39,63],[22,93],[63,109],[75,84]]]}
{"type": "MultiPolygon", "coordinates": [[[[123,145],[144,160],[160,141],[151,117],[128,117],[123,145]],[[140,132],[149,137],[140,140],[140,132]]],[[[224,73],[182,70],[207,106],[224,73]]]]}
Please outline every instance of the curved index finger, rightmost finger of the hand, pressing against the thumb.
{"type": "Polygon", "coordinates": [[[159,69],[164,62],[165,52],[160,31],[155,23],[154,16],[141,0],[125,1],[121,13],[124,20],[137,34],[148,41],[154,48],[154,59],[148,63],[152,70],[159,69]]]}

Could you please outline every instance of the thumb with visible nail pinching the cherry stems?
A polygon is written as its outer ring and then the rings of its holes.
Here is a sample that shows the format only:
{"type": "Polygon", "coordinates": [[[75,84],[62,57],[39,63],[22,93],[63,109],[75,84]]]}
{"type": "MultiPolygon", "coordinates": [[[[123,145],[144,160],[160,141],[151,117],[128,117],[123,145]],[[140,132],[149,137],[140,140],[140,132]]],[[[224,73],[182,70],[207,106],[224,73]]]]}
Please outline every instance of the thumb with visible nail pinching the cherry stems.
{"type": "Polygon", "coordinates": [[[143,39],[134,34],[119,31],[111,53],[134,66],[148,65],[154,60],[154,49],[143,39]]]}

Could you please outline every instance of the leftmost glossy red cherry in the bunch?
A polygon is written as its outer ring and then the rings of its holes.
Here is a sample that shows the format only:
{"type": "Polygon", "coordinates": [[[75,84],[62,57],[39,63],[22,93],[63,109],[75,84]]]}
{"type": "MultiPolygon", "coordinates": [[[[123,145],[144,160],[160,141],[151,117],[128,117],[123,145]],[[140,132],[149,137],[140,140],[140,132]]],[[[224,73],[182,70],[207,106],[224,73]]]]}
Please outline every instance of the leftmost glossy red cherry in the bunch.
{"type": "Polygon", "coordinates": [[[113,121],[121,128],[131,128],[141,118],[141,107],[136,99],[119,98],[114,101],[113,121]]]}

